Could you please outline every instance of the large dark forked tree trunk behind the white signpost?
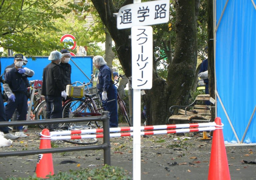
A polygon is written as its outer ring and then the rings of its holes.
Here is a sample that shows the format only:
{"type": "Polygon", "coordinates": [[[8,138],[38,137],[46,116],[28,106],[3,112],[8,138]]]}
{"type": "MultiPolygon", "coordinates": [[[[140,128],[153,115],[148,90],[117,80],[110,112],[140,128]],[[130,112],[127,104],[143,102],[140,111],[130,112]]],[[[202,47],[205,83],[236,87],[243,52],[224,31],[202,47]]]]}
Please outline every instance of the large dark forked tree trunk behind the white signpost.
{"type": "MultiPolygon", "coordinates": [[[[132,3],[133,1],[126,1],[132,3]]],[[[198,2],[198,1],[197,1],[198,2]]],[[[130,29],[118,30],[113,13],[118,9],[112,1],[92,0],[100,18],[115,42],[119,61],[127,77],[131,76],[131,35],[130,29]]],[[[173,61],[168,67],[167,81],[158,77],[153,69],[151,90],[145,90],[147,125],[165,124],[170,116],[171,105],[186,105],[195,77],[197,62],[197,29],[195,1],[177,0],[176,6],[176,47],[173,61]],[[189,35],[188,35],[189,34],[189,35]]],[[[171,60],[170,60],[171,61],[171,60]]],[[[153,65],[153,67],[156,67],[153,65]]]]}

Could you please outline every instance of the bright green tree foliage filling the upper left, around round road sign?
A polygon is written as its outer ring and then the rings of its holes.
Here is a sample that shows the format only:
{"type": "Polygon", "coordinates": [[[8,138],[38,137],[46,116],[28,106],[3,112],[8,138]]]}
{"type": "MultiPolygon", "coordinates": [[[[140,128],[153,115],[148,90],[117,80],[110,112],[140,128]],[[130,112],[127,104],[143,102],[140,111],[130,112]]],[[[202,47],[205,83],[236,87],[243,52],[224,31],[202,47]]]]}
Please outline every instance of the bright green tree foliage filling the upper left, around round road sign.
{"type": "Polygon", "coordinates": [[[96,31],[101,31],[94,33],[83,27],[85,17],[92,10],[90,4],[69,0],[3,1],[0,6],[0,47],[5,51],[0,52],[0,56],[7,56],[7,49],[26,56],[48,56],[53,50],[73,45],[71,42],[60,43],[64,34],[72,34],[77,46],[87,46],[87,55],[102,55],[97,42],[105,40],[104,28],[99,26],[96,31]]]}

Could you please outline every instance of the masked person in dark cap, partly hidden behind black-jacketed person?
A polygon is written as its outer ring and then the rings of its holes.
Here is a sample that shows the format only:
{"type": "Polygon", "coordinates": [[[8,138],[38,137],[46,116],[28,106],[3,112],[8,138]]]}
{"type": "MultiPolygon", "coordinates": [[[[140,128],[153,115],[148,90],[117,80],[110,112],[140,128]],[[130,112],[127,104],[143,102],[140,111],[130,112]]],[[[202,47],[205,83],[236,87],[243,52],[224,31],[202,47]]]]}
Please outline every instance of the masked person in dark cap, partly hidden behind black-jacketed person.
{"type": "Polygon", "coordinates": [[[66,90],[66,86],[71,85],[71,65],[68,63],[70,61],[71,54],[67,49],[62,49],[60,52],[61,52],[60,72],[62,76],[62,83],[66,90]]]}

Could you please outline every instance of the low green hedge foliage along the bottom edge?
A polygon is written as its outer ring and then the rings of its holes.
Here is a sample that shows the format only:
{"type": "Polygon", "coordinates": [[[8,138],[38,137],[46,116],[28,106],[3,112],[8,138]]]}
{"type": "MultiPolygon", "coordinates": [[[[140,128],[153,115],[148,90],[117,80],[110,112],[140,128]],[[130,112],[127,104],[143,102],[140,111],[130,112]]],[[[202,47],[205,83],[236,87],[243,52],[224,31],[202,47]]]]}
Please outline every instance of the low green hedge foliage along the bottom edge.
{"type": "MultiPolygon", "coordinates": [[[[0,178],[2,180],[2,178],[0,178]]],[[[84,180],[131,180],[130,176],[127,176],[125,171],[121,167],[105,165],[102,168],[81,168],[79,170],[69,170],[69,172],[58,172],[52,176],[49,175],[49,180],[72,180],[72,179],[84,179],[84,180]]],[[[28,178],[11,177],[6,180],[41,180],[36,175],[29,176],[28,178]]]]}

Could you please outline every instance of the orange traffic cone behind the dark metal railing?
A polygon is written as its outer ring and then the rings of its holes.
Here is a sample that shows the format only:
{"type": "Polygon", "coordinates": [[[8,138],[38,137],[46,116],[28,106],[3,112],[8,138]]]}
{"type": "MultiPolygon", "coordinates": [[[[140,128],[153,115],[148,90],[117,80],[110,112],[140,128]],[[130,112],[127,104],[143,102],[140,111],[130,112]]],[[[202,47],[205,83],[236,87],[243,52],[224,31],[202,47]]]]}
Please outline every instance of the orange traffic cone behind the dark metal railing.
{"type": "MultiPolygon", "coordinates": [[[[39,149],[49,149],[51,148],[51,139],[47,139],[45,136],[49,136],[50,132],[48,129],[43,129],[42,130],[42,136],[40,141],[40,147],[39,149]]],[[[53,175],[53,161],[52,161],[52,153],[48,154],[39,154],[38,155],[38,160],[37,160],[37,165],[36,165],[36,176],[40,178],[48,178],[46,177],[47,175],[53,175]]]]}

